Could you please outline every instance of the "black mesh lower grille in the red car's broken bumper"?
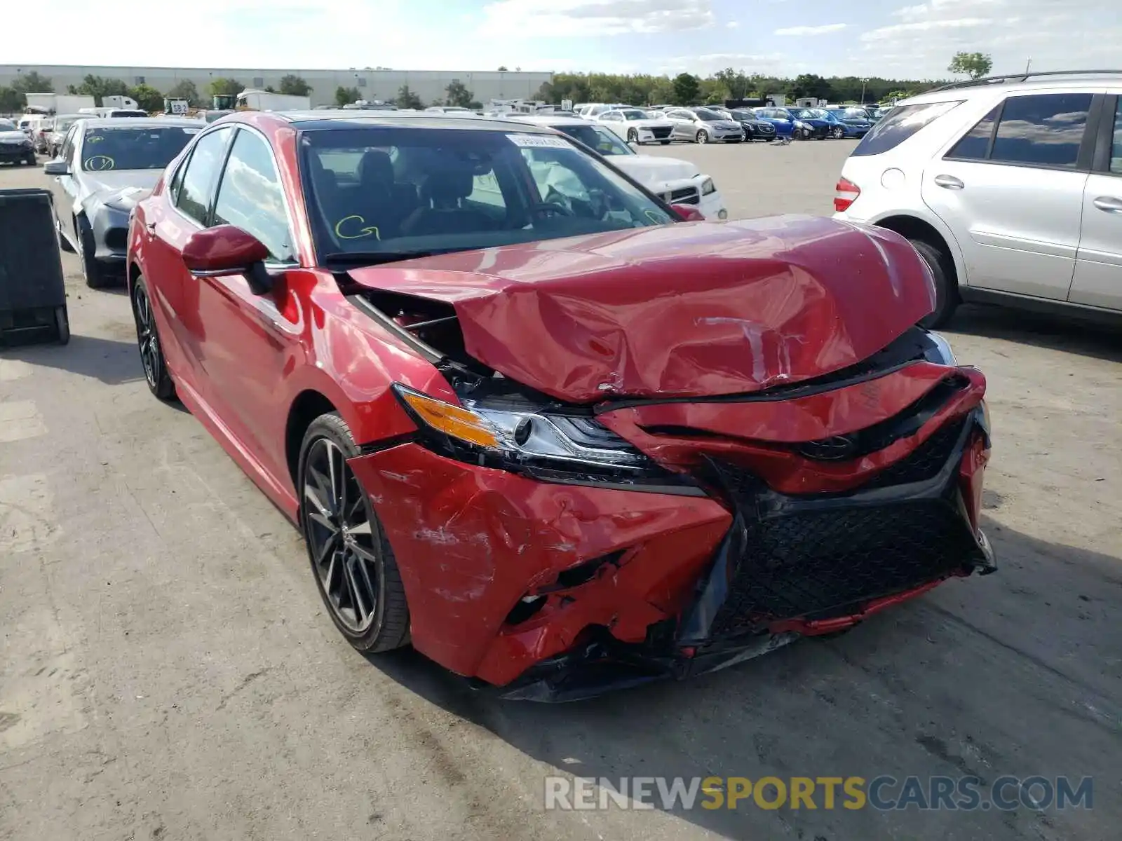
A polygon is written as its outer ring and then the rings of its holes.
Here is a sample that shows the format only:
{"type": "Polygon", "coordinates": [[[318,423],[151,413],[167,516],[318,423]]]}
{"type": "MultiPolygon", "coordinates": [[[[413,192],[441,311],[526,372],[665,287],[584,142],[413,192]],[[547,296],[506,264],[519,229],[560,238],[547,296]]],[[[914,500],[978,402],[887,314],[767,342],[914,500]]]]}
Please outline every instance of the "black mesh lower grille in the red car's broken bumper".
{"type": "Polygon", "coordinates": [[[824,619],[946,576],[981,549],[948,500],[844,507],[756,520],[714,636],[824,619]]]}

